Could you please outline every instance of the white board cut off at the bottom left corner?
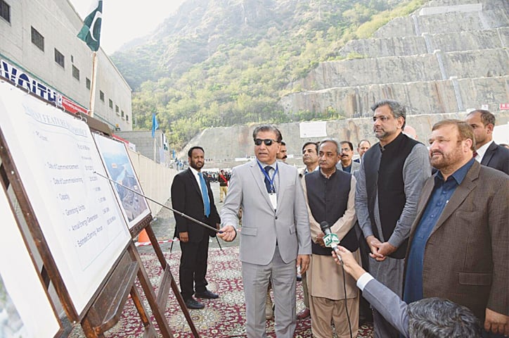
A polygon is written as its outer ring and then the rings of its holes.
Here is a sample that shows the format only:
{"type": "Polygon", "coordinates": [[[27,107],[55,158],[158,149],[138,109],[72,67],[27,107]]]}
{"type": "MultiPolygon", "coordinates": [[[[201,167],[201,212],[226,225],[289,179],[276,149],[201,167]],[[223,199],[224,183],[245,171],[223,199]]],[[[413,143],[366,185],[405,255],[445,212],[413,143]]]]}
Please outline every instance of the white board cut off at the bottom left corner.
{"type": "Polygon", "coordinates": [[[60,323],[0,186],[0,337],[55,337],[60,323]]]}

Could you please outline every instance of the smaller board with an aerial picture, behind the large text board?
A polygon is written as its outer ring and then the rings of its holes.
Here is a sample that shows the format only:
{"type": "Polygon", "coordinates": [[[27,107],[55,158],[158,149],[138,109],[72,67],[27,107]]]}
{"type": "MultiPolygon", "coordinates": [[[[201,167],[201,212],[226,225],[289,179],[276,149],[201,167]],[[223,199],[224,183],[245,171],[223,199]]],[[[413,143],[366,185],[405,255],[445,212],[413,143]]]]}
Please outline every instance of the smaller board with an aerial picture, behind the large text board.
{"type": "MultiPolygon", "coordinates": [[[[108,172],[108,177],[141,194],[138,195],[112,182],[115,196],[117,196],[122,213],[124,213],[129,229],[131,229],[131,227],[134,227],[134,225],[150,214],[150,208],[148,208],[147,200],[143,197],[143,190],[134,172],[127,149],[124,143],[115,141],[115,139],[109,139],[100,134],[94,134],[94,139],[108,172]]],[[[101,178],[101,180],[105,179],[101,178]]]]}

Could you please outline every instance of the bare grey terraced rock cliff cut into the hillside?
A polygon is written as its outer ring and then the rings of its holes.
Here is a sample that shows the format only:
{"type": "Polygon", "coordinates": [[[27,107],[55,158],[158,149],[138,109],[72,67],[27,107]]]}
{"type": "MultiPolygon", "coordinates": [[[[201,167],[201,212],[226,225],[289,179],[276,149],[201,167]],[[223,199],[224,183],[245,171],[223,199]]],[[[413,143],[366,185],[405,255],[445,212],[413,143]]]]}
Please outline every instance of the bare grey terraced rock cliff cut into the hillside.
{"type": "MultiPolygon", "coordinates": [[[[357,144],[377,140],[371,130],[371,105],[395,99],[407,107],[407,124],[425,142],[434,123],[443,118],[463,119],[470,109],[486,105],[497,125],[508,123],[509,111],[509,2],[498,0],[437,0],[406,18],[392,20],[372,39],[349,42],[340,51],[343,61],[320,63],[307,77],[292,83],[298,90],[281,99],[288,114],[334,109],[344,120],[327,121],[328,137],[357,144]]],[[[299,123],[278,126],[288,154],[299,156],[299,123]]],[[[211,144],[211,165],[228,168],[252,156],[253,126],[210,128],[186,146],[211,144]],[[212,140],[228,140],[212,146],[212,140]]],[[[217,144],[217,143],[216,143],[217,144]]],[[[207,148],[207,146],[206,146],[207,148]]],[[[184,149],[184,151],[187,151],[184,149]]],[[[184,154],[184,151],[182,154],[184,154]]],[[[290,163],[302,165],[300,158],[290,163]]]]}

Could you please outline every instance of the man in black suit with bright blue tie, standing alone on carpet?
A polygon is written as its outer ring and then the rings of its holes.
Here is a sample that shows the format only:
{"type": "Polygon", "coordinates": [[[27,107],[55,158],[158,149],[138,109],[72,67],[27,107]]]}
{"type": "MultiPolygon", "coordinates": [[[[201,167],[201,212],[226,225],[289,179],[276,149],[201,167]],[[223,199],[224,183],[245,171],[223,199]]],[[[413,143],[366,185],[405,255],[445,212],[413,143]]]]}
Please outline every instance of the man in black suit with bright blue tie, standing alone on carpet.
{"type": "MultiPolygon", "coordinates": [[[[188,151],[189,168],[173,179],[172,206],[176,211],[184,213],[196,220],[219,229],[221,219],[214,205],[214,196],[206,175],[201,169],[205,163],[205,151],[201,146],[193,146],[188,151]]],[[[217,299],[219,296],[207,290],[207,257],[209,236],[215,237],[216,232],[183,218],[175,216],[175,234],[180,239],[180,289],[182,298],[188,308],[204,308],[205,305],[196,298],[217,299]]]]}

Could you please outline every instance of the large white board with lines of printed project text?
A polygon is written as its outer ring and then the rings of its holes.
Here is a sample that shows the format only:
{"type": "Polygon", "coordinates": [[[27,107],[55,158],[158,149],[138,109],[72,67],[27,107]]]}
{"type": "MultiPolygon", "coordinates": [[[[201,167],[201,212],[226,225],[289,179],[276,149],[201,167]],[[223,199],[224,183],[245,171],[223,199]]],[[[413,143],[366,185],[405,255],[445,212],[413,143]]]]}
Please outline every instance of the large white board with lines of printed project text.
{"type": "Polygon", "coordinates": [[[131,236],[88,125],[0,83],[0,128],[81,314],[131,236]]]}

